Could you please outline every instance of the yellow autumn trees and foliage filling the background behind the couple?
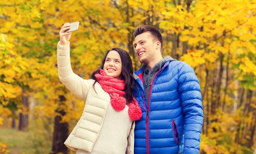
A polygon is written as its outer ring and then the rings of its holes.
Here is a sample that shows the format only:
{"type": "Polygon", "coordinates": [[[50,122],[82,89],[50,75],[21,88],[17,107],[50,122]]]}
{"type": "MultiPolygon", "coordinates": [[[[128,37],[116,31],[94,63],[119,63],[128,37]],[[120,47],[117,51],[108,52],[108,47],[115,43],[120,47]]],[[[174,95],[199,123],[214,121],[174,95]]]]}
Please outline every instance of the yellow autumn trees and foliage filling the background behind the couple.
{"type": "Polygon", "coordinates": [[[59,81],[56,47],[72,33],[73,71],[84,79],[113,47],[134,62],[133,31],[155,26],[163,56],[185,61],[204,104],[201,154],[256,148],[256,0],[1,0],[0,154],[72,154],[64,140],[84,103],[59,81]]]}

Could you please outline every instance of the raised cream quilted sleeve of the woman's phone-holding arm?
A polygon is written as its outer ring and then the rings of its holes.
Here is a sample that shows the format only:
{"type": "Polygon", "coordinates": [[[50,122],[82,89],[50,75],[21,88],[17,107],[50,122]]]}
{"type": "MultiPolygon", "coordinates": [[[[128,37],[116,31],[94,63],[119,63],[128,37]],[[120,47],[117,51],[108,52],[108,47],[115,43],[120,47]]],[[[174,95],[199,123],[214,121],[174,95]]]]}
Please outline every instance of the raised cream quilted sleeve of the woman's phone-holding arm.
{"type": "Polygon", "coordinates": [[[57,61],[58,61],[58,76],[61,83],[64,84],[81,100],[85,100],[94,80],[84,80],[77,74],[73,73],[70,63],[70,43],[66,46],[61,46],[60,42],[57,45],[57,61]]]}

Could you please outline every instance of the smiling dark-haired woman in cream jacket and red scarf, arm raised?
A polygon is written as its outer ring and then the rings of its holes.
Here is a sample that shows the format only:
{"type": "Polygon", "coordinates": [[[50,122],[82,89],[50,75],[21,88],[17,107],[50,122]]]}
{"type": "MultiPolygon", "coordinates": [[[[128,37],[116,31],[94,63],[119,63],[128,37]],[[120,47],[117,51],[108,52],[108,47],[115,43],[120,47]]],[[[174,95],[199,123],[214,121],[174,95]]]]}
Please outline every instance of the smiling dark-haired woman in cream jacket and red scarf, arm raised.
{"type": "Polygon", "coordinates": [[[60,31],[58,74],[61,83],[85,105],[64,144],[77,154],[133,153],[133,121],[141,118],[142,111],[132,93],[136,84],[129,54],[121,48],[108,50],[92,79],[84,80],[70,66],[71,32],[64,32],[69,28],[70,24],[65,23],[60,31]]]}

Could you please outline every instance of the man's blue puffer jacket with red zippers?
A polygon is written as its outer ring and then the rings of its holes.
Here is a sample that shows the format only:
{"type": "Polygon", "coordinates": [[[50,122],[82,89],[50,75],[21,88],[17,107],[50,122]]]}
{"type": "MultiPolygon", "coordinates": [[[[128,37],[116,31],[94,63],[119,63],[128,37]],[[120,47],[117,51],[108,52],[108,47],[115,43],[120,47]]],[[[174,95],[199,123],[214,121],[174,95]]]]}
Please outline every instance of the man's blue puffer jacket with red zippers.
{"type": "Polygon", "coordinates": [[[143,111],[134,154],[198,154],[204,114],[195,71],[185,62],[167,61],[152,81],[149,100],[142,77],[143,69],[134,73],[134,95],[143,111]]]}

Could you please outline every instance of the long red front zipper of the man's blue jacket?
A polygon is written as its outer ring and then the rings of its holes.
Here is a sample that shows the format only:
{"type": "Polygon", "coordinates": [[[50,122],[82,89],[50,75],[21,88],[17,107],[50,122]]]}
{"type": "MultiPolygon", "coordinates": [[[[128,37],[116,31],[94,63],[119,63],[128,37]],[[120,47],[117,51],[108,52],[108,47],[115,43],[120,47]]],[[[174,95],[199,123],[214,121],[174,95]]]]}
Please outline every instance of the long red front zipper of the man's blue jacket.
{"type": "MultiPolygon", "coordinates": [[[[168,65],[169,65],[169,64],[168,64],[168,65]]],[[[166,66],[168,66],[168,65],[166,65],[166,66]]],[[[166,66],[164,66],[163,68],[165,68],[166,66]]],[[[163,68],[160,69],[160,71],[162,71],[163,68]]],[[[153,80],[152,80],[152,84],[151,84],[150,91],[149,91],[149,97],[148,97],[148,108],[147,108],[147,106],[146,106],[145,99],[144,99],[144,94],[143,94],[144,105],[145,105],[145,109],[146,109],[146,111],[147,111],[147,116],[146,116],[146,124],[147,124],[147,154],[149,154],[148,113],[149,113],[149,107],[150,107],[150,97],[151,97],[151,91],[152,91],[154,79],[156,78],[157,74],[158,74],[160,71],[158,71],[158,72],[155,74],[155,76],[154,76],[154,78],[153,78],[153,80]]]]}

